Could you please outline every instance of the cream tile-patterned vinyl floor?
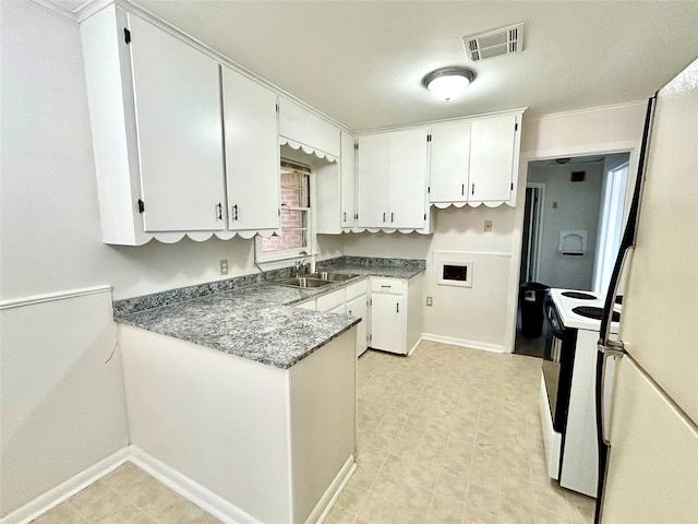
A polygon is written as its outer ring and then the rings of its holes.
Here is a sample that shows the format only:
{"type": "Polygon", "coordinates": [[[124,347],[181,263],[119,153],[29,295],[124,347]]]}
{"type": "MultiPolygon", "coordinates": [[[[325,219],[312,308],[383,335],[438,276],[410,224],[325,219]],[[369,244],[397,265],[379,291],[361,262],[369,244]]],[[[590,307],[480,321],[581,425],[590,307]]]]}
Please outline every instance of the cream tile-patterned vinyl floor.
{"type": "MultiPolygon", "coordinates": [[[[545,473],[540,366],[432,342],[409,358],[364,354],[358,468],[325,523],[591,523],[593,499],[545,473]]],[[[34,521],[217,522],[131,463],[34,521]]]]}

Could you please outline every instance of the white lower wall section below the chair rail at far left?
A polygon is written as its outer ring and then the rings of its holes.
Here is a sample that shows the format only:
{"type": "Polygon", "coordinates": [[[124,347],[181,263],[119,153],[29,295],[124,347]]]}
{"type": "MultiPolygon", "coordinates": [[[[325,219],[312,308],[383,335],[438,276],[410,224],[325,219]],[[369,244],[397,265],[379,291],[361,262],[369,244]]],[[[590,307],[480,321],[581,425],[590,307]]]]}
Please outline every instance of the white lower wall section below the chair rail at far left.
{"type": "Polygon", "coordinates": [[[108,288],[0,310],[0,517],[128,445],[111,315],[108,288]]]}

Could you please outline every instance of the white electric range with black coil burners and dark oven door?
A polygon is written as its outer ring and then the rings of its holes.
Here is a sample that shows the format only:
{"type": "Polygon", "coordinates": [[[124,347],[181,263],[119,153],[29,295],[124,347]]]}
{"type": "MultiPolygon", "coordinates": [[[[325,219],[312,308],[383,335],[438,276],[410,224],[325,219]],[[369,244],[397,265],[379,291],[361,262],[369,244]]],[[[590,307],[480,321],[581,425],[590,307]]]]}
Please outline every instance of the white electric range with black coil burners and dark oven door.
{"type": "MultiPolygon", "coordinates": [[[[597,495],[595,367],[604,300],[598,293],[552,288],[544,303],[540,409],[547,473],[590,497],[597,495]]],[[[615,310],[611,332],[617,334],[619,303],[615,310]]],[[[610,400],[612,370],[606,380],[610,400]]]]}

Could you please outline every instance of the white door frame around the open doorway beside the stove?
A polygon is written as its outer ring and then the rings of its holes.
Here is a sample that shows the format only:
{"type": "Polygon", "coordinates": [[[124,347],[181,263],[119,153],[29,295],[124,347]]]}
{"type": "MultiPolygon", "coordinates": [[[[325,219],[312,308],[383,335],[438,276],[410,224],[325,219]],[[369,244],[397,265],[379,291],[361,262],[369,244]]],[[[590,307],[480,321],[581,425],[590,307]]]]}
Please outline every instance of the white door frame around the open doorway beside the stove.
{"type": "MultiPolygon", "coordinates": [[[[514,231],[512,234],[512,269],[509,271],[509,297],[507,300],[507,321],[504,338],[505,350],[514,352],[516,342],[516,315],[518,308],[518,282],[521,271],[521,242],[524,240],[524,206],[526,204],[526,183],[528,180],[528,163],[533,160],[550,160],[573,156],[610,155],[613,153],[628,153],[630,174],[637,172],[640,143],[638,141],[610,142],[588,144],[556,150],[522,151],[519,155],[518,184],[516,207],[514,209],[514,231]]],[[[635,189],[635,178],[628,177],[626,187],[625,209],[623,210],[623,225],[627,222],[631,194],[635,189]]]]}

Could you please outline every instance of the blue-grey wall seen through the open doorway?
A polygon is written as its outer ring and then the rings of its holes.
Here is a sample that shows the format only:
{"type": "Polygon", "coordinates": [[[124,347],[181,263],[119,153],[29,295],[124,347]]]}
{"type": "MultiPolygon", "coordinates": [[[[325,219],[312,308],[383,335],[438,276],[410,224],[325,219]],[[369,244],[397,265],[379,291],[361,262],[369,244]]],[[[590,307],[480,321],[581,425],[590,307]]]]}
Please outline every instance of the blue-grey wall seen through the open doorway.
{"type": "Polygon", "coordinates": [[[597,229],[603,186],[603,162],[554,166],[529,165],[528,181],[545,184],[539,281],[551,287],[592,289],[597,253],[597,229]],[[573,171],[585,171],[585,180],[573,182],[573,171]],[[583,255],[563,255],[561,230],[586,230],[583,255]]]}

